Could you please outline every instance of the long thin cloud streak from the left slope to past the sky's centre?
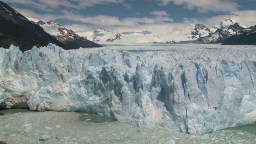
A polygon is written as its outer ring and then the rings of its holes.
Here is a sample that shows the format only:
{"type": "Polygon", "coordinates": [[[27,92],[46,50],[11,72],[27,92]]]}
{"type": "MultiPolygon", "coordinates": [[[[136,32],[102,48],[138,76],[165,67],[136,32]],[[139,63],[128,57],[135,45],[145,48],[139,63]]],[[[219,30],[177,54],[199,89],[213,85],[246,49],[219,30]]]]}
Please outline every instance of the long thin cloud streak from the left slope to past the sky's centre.
{"type": "Polygon", "coordinates": [[[83,16],[80,14],[76,14],[70,12],[68,10],[62,10],[62,14],[37,14],[32,10],[15,8],[22,15],[44,21],[54,21],[58,19],[66,19],[72,21],[82,22],[84,24],[93,24],[95,26],[137,26],[141,24],[163,24],[166,22],[173,22],[172,18],[165,16],[156,16],[155,18],[118,18],[116,16],[105,16],[105,15],[97,15],[97,16],[83,16]]]}

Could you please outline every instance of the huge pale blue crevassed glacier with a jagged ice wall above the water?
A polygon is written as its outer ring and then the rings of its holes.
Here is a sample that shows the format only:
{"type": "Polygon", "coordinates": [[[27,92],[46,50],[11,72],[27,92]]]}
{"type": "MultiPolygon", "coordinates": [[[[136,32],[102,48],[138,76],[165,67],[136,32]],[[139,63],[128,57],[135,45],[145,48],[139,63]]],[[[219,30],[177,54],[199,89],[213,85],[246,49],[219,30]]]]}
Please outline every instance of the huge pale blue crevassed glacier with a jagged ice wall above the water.
{"type": "Polygon", "coordinates": [[[0,108],[91,112],[204,134],[256,122],[253,46],[0,48],[0,108]],[[241,53],[241,50],[243,52],[241,53]]]}

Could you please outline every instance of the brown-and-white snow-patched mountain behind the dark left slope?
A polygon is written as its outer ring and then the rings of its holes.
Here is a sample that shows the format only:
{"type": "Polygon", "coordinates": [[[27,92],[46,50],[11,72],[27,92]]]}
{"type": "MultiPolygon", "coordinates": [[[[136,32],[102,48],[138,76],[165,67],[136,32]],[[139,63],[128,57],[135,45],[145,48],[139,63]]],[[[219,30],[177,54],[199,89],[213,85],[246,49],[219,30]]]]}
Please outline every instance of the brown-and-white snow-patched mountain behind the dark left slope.
{"type": "Polygon", "coordinates": [[[54,22],[44,22],[42,20],[37,20],[34,18],[28,18],[28,20],[40,25],[44,28],[44,31],[48,32],[48,34],[54,36],[57,40],[66,44],[70,47],[74,48],[88,48],[88,47],[100,47],[100,45],[87,40],[82,36],[78,36],[75,32],[73,32],[70,28],[57,24],[54,22]]]}

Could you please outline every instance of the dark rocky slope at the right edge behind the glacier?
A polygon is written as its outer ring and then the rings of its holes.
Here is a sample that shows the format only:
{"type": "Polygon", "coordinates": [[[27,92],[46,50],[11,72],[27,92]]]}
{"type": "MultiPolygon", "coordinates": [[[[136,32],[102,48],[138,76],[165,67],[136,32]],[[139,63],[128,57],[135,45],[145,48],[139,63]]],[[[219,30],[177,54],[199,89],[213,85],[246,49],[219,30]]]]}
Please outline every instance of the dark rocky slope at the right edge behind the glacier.
{"type": "Polygon", "coordinates": [[[230,36],[222,45],[256,45],[256,25],[230,36]]]}

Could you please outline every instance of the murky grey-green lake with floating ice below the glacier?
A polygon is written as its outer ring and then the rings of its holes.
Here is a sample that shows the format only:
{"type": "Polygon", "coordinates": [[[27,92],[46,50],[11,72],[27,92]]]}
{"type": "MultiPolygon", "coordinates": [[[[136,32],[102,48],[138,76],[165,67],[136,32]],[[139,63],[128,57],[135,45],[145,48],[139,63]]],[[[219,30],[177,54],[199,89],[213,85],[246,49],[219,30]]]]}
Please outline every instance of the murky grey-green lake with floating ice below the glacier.
{"type": "Polygon", "coordinates": [[[80,112],[0,110],[0,141],[9,144],[254,144],[256,124],[193,136],[138,128],[80,112]]]}

